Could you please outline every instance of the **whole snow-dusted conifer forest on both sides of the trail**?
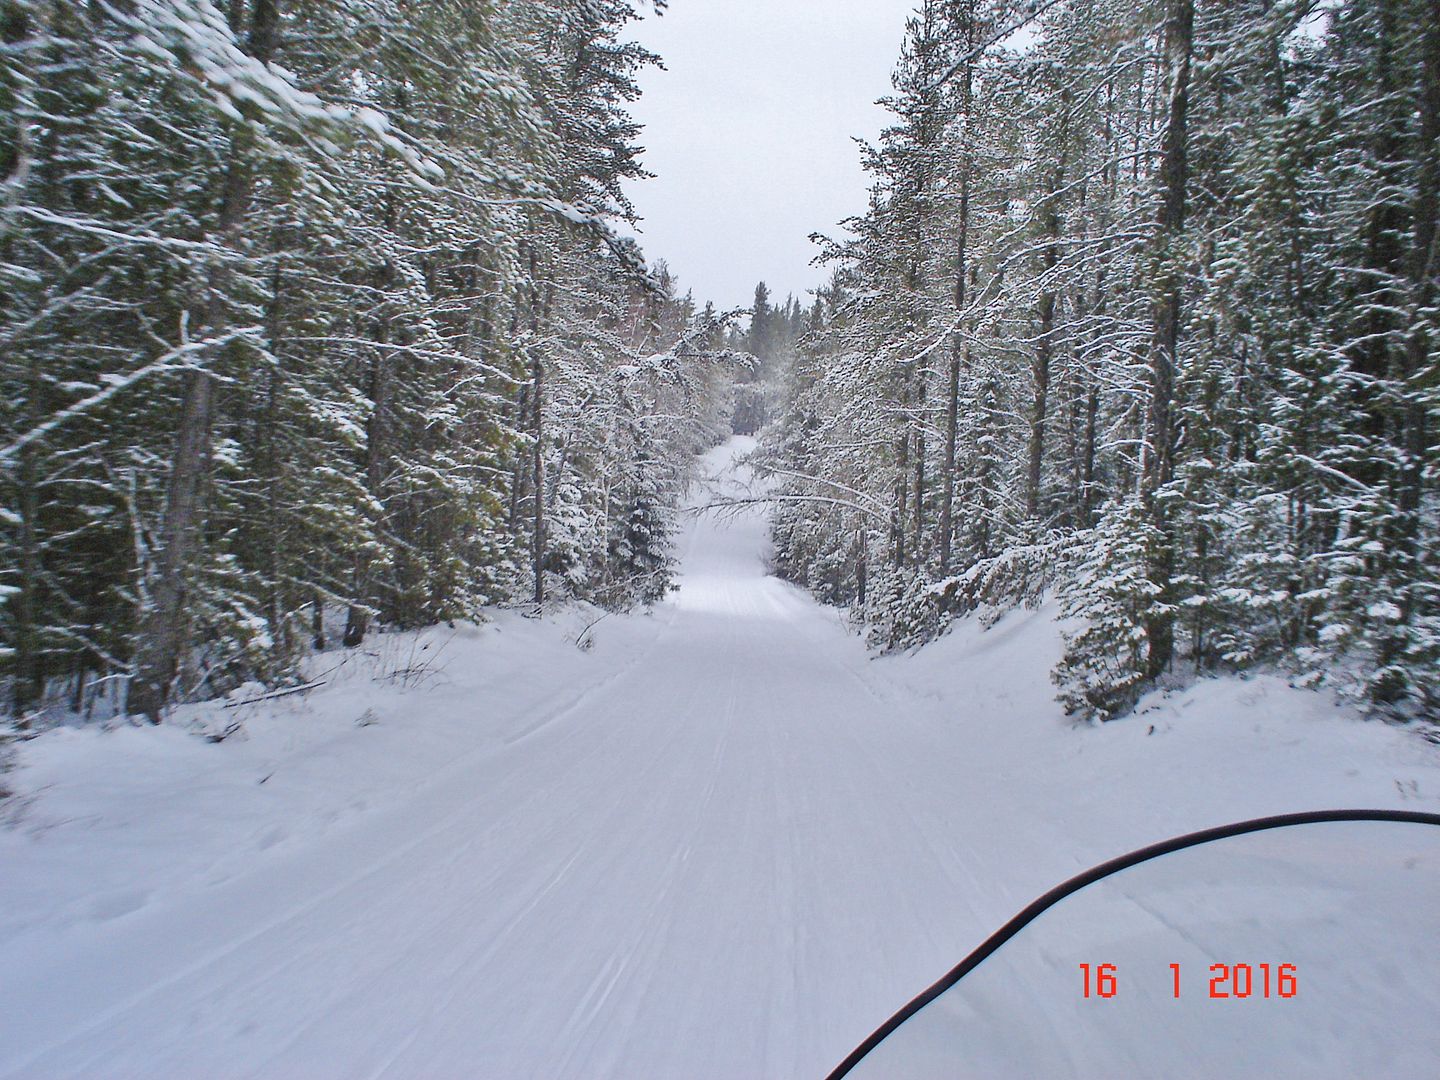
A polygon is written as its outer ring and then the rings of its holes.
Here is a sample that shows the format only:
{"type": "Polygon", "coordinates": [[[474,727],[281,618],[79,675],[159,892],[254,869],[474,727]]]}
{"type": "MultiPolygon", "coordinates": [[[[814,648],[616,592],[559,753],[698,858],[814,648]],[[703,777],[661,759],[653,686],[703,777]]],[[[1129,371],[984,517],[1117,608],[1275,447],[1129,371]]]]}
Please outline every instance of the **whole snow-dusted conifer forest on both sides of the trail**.
{"type": "Polygon", "coordinates": [[[651,605],[732,431],[880,649],[1054,596],[1077,716],[1254,668],[1436,714],[1433,4],[924,0],[828,284],[746,312],[616,230],[639,14],[0,4],[17,723],[651,605]]]}

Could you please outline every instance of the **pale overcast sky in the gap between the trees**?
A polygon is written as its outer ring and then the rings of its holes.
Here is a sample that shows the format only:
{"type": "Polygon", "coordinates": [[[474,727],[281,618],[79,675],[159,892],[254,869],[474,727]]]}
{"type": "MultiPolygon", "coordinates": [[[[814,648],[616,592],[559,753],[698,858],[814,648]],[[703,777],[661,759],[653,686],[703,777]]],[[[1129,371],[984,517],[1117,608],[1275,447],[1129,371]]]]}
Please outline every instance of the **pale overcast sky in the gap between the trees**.
{"type": "Polygon", "coordinates": [[[851,137],[874,140],[913,0],[672,0],[635,36],[667,71],[644,75],[634,115],[645,166],[631,187],[641,243],[681,291],[747,307],[755,282],[805,295],[809,233],[865,209],[851,137]]]}

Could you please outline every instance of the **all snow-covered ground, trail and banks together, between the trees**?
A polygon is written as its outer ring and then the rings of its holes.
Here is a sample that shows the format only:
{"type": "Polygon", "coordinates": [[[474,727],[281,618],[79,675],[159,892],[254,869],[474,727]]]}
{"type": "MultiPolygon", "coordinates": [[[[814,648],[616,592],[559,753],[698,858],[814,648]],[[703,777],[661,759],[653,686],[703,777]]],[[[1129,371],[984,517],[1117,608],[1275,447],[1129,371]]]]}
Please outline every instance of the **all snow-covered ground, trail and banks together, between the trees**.
{"type": "Polygon", "coordinates": [[[503,615],[26,743],[0,1077],[822,1076],[1083,867],[1440,809],[1433,746],[1277,678],[1074,727],[1051,611],[874,660],[765,546],[759,513],[697,518],[683,589],[590,648],[593,616],[503,615]]]}

